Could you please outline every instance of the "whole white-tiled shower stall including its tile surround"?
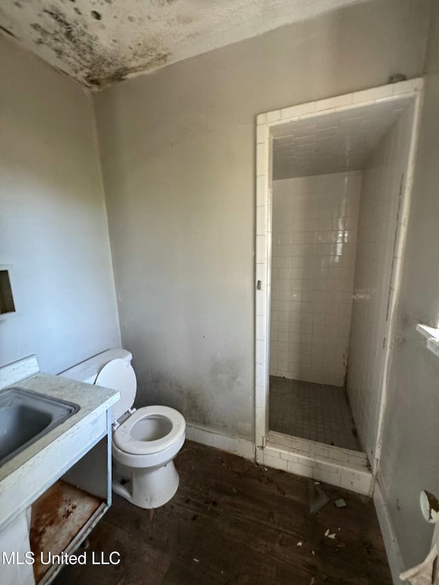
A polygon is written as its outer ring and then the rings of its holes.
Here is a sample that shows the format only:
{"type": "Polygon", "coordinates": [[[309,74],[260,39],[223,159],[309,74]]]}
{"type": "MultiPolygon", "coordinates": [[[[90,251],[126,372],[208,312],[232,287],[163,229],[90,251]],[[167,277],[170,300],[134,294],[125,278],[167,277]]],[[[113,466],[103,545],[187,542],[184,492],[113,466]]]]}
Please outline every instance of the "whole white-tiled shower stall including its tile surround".
{"type": "Polygon", "coordinates": [[[278,468],[316,477],[322,448],[308,457],[303,440],[327,443],[334,462],[377,457],[421,88],[412,80],[259,118],[257,436],[269,405],[263,456],[278,468]],[[279,447],[278,433],[293,438],[279,447]]]}

